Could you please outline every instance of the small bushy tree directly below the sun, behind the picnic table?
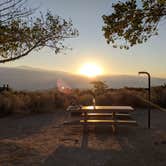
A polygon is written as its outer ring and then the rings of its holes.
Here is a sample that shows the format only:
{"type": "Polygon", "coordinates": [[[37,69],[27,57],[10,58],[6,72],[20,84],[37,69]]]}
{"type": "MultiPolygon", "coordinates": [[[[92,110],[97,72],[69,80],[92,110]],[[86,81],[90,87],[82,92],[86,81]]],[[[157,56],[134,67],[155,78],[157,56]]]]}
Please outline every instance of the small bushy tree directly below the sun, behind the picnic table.
{"type": "Polygon", "coordinates": [[[103,81],[92,81],[91,84],[93,85],[94,96],[103,94],[108,89],[107,84],[103,81]]]}

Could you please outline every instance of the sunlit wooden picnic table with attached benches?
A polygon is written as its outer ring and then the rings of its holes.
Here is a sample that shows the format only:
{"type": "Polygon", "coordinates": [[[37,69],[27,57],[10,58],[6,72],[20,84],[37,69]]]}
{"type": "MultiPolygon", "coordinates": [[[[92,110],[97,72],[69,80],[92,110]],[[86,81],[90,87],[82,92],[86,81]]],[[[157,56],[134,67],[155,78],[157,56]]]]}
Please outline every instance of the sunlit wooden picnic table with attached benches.
{"type": "Polygon", "coordinates": [[[134,111],[131,106],[69,106],[69,121],[65,124],[89,124],[112,125],[115,132],[116,125],[135,125],[136,121],[130,118],[130,113],[134,111]],[[77,115],[78,119],[73,120],[72,115],[77,115]]]}

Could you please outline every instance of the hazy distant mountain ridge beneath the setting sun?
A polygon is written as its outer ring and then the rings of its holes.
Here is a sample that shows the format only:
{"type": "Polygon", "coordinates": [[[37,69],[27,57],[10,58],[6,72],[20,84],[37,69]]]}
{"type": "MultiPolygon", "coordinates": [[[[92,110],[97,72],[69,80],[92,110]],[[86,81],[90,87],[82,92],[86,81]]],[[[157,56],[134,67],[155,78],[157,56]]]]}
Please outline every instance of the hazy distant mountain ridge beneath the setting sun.
{"type": "MultiPolygon", "coordinates": [[[[0,67],[0,86],[9,84],[16,90],[43,90],[57,86],[60,81],[70,88],[90,88],[93,79],[62,71],[48,71],[28,66],[16,68],[0,67]]],[[[94,80],[105,81],[111,88],[146,87],[147,78],[130,75],[100,76],[94,80]]],[[[152,78],[152,86],[163,85],[166,79],[152,78]]]]}

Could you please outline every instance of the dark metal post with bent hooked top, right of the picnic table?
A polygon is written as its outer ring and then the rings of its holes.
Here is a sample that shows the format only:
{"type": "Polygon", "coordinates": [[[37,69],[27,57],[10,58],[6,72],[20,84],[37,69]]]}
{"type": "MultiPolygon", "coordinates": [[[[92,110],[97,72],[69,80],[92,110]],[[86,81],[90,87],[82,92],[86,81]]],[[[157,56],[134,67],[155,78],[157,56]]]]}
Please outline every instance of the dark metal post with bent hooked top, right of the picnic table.
{"type": "MultiPolygon", "coordinates": [[[[145,71],[140,71],[138,72],[138,74],[146,74],[148,76],[148,100],[150,102],[151,100],[151,76],[148,72],[145,71]]],[[[150,128],[151,125],[151,108],[150,108],[150,104],[148,105],[148,128],[150,128]]]]}

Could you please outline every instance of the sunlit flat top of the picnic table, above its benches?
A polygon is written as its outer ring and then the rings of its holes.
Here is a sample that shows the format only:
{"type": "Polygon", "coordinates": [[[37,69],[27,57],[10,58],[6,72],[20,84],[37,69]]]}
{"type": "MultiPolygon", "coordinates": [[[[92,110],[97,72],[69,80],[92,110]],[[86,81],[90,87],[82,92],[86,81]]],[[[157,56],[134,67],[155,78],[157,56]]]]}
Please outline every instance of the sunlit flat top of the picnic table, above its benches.
{"type": "Polygon", "coordinates": [[[69,106],[68,111],[111,111],[111,112],[129,112],[134,111],[131,106],[69,106]]]}

